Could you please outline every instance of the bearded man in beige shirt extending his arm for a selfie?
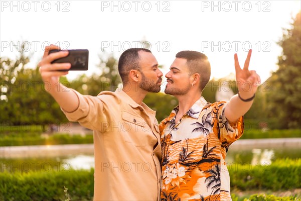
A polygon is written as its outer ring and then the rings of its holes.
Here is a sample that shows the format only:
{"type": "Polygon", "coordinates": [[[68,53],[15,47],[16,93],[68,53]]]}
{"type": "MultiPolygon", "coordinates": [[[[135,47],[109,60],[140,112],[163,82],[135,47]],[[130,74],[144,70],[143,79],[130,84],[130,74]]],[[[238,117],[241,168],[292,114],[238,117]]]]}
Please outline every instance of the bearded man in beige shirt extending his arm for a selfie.
{"type": "MultiPolygon", "coordinates": [[[[132,48],[119,58],[123,88],[98,96],[82,95],[59,83],[70,63],[51,64],[68,51],[48,55],[46,48],[40,72],[48,91],[69,121],[94,131],[94,200],[159,200],[161,144],[156,112],[143,102],[147,92],[159,92],[162,72],[147,49],[132,48]],[[58,85],[59,84],[59,85],[58,85]]],[[[84,184],[81,184],[84,185],[84,184]]]]}

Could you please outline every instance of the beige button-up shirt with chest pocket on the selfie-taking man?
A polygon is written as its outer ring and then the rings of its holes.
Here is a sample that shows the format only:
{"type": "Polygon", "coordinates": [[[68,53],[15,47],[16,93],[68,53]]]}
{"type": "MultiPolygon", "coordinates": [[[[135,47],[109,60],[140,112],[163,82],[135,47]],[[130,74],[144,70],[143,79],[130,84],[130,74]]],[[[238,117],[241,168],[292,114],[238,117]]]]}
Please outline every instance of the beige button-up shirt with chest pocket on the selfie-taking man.
{"type": "MultiPolygon", "coordinates": [[[[82,95],[64,112],[94,131],[94,200],[159,200],[161,144],[156,112],[124,91],[82,95]]],[[[84,185],[84,184],[82,184],[84,185]]]]}

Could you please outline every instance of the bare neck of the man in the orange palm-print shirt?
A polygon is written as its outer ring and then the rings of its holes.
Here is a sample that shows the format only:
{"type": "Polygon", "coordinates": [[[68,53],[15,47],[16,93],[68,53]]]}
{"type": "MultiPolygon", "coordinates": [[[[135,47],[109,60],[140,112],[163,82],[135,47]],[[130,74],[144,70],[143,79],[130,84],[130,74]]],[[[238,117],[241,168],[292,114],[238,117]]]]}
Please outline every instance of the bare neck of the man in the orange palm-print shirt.
{"type": "Polygon", "coordinates": [[[190,90],[185,95],[176,96],[179,100],[179,112],[178,114],[184,115],[202,96],[202,92],[197,90],[190,90]]]}

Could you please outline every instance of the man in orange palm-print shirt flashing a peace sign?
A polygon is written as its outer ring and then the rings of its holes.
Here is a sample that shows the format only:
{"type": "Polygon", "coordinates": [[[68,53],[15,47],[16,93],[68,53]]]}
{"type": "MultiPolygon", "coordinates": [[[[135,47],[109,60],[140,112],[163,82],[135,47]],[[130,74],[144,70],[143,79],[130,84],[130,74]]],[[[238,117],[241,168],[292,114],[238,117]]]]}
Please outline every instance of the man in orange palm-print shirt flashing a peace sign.
{"type": "Polygon", "coordinates": [[[196,51],[176,55],[165,92],[177,97],[179,106],[160,124],[162,200],[231,200],[225,158],[243,133],[243,115],[260,83],[248,69],[250,57],[251,50],[241,69],[234,56],[239,93],[211,104],[202,96],[211,71],[207,57],[196,51]]]}

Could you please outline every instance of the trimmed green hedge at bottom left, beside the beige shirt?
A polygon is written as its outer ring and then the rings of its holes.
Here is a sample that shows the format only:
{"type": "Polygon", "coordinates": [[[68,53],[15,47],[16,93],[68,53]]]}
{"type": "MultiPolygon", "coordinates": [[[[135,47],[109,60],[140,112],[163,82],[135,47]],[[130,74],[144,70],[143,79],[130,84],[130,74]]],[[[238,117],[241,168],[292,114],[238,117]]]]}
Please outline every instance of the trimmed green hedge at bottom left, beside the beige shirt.
{"type": "Polygon", "coordinates": [[[0,173],[0,200],[64,200],[64,186],[71,200],[92,200],[94,171],[0,173]]]}

